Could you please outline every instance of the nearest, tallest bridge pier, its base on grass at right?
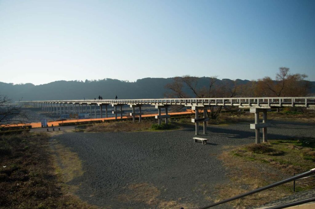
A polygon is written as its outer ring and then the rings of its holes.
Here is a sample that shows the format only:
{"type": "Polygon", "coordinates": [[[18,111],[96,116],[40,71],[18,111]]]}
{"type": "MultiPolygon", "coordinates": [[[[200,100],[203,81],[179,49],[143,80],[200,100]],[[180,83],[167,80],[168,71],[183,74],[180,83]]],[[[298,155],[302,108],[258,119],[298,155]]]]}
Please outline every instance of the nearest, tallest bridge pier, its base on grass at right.
{"type": "Polygon", "coordinates": [[[255,129],[255,143],[260,143],[260,129],[262,128],[262,141],[267,142],[267,111],[270,109],[250,108],[250,113],[255,113],[255,124],[250,124],[250,129],[255,129]],[[259,113],[262,113],[262,123],[259,123],[259,113]]]}

